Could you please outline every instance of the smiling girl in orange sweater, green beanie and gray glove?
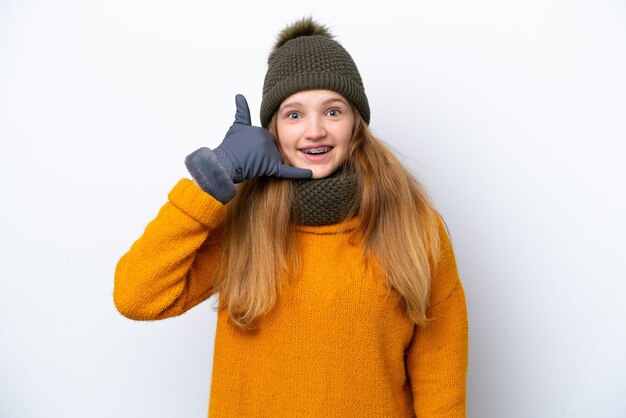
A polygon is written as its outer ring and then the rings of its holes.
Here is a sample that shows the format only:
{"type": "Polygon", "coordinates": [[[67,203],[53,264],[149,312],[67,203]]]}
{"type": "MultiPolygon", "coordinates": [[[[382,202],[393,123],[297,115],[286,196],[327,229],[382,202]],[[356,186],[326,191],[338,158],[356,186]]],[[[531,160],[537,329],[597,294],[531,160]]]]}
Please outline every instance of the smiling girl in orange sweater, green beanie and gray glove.
{"type": "Polygon", "coordinates": [[[268,60],[262,128],[236,107],[120,259],[118,310],[162,319],[219,293],[210,417],[464,417],[450,240],[370,132],[351,56],[297,21],[268,60]]]}

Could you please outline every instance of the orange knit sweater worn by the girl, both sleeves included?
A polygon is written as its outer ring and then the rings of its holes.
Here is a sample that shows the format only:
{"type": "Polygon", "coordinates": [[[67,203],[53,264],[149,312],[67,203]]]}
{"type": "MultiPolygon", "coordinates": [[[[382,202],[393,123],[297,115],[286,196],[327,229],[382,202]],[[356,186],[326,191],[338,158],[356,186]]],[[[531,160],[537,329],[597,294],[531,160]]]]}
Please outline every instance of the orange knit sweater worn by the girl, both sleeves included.
{"type": "MultiPolygon", "coordinates": [[[[219,244],[207,237],[223,218],[224,206],[181,180],[117,265],[118,310],[161,319],[206,300],[219,244]]],[[[465,417],[467,315],[443,224],[432,321],[417,328],[349,243],[356,222],[298,227],[302,271],[257,331],[218,311],[209,417],[465,417]]]]}

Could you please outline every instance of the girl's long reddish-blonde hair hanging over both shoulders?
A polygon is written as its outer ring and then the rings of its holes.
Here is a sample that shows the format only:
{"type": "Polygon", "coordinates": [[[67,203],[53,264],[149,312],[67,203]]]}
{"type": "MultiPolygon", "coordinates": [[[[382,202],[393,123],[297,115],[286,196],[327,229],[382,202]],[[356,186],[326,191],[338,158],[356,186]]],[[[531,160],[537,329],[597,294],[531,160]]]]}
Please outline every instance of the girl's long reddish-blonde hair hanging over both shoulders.
{"type": "MultiPolygon", "coordinates": [[[[362,238],[363,256],[380,267],[388,290],[400,294],[408,317],[425,325],[431,270],[439,258],[437,212],[422,185],[353,111],[347,164],[359,191],[347,219],[358,214],[360,222],[352,237],[362,238]]],[[[268,131],[276,137],[275,117],[268,131]]],[[[219,307],[242,330],[253,329],[273,308],[300,268],[294,203],[292,180],[257,177],[241,183],[227,206],[214,290],[219,307]]]]}

